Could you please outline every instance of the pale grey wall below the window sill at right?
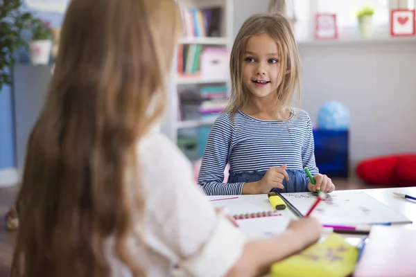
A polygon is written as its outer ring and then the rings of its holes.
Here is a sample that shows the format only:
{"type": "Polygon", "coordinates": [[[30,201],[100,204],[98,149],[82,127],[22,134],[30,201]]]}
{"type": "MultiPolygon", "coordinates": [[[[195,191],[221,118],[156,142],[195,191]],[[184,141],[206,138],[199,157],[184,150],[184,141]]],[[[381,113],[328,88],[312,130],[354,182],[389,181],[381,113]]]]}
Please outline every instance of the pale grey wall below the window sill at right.
{"type": "Polygon", "coordinates": [[[362,159],[416,152],[416,39],[300,44],[303,105],[339,100],[351,112],[352,170],[362,159]]]}

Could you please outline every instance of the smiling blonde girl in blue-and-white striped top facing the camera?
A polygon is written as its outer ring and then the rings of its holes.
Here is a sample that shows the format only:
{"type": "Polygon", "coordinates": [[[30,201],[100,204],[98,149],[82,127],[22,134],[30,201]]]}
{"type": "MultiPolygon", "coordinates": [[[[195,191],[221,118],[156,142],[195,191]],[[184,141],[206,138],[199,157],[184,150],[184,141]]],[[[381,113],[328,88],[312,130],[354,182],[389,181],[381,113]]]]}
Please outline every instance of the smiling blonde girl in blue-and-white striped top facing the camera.
{"type": "MultiPolygon", "coordinates": [[[[291,107],[300,89],[300,58],[291,22],[281,13],[252,15],[234,41],[227,112],[209,132],[198,183],[208,195],[335,189],[315,164],[311,118],[291,107]],[[223,171],[229,163],[229,178],[223,171]],[[306,176],[309,168],[316,186],[306,176]]],[[[298,94],[300,100],[300,94],[298,94]]]]}

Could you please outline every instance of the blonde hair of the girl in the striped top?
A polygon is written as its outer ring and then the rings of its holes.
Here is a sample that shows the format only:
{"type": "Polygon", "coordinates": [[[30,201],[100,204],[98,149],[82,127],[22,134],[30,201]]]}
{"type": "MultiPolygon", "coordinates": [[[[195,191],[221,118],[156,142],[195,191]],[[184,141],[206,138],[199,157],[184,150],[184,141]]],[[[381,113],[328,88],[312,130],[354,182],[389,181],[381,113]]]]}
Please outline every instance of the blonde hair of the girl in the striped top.
{"type": "Polygon", "coordinates": [[[232,47],[229,60],[232,92],[226,109],[230,114],[235,114],[237,110],[248,105],[249,91],[244,87],[241,75],[243,53],[250,37],[263,34],[275,40],[280,54],[281,83],[276,91],[275,111],[286,107],[296,90],[298,104],[300,103],[300,58],[291,21],[281,13],[257,14],[252,15],[243,23],[232,47]]]}

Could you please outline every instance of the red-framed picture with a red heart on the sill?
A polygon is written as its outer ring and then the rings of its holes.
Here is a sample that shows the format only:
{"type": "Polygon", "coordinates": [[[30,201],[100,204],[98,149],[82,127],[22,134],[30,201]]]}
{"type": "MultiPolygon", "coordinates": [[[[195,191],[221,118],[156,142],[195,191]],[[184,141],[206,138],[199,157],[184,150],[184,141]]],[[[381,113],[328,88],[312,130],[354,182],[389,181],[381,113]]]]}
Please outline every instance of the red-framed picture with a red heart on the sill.
{"type": "Polygon", "coordinates": [[[405,37],[415,34],[415,9],[391,10],[390,35],[392,37],[405,37]]]}

